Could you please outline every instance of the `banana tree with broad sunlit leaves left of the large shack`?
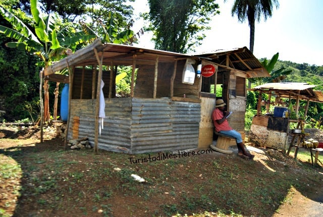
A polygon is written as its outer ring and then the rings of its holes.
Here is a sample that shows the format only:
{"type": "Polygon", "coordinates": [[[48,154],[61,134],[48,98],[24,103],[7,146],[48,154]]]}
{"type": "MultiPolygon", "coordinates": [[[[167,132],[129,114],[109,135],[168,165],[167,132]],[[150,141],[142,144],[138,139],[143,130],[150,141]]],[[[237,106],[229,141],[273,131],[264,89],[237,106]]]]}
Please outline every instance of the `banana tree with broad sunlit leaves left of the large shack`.
{"type": "MultiPolygon", "coordinates": [[[[0,33],[15,41],[6,43],[6,46],[26,50],[40,58],[38,64],[47,68],[52,62],[59,61],[72,53],[76,45],[82,41],[93,39],[95,35],[85,35],[78,32],[69,34],[67,29],[58,31],[58,25],[53,15],[43,15],[38,8],[38,1],[30,1],[31,13],[34,20],[34,29],[30,29],[5,7],[0,6],[0,14],[12,25],[13,28],[0,25],[0,33]]],[[[29,25],[30,26],[30,25],[29,25]]],[[[43,82],[44,106],[41,111],[43,121],[50,119],[49,115],[49,84],[43,82]]],[[[56,100],[57,101],[57,100],[56,100]]],[[[54,106],[55,107],[55,106],[54,106]]],[[[57,107],[57,106],[56,106],[57,107]]]]}

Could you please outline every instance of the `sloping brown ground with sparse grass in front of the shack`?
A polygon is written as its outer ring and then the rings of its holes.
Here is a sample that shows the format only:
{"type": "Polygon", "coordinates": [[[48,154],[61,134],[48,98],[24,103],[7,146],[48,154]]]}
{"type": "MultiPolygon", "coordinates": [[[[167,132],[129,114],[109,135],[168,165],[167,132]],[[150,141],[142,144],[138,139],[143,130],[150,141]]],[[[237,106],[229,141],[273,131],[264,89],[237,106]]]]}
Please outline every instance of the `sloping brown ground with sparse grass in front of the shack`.
{"type": "Polygon", "coordinates": [[[293,152],[254,160],[212,153],[130,164],[130,156],[147,155],[63,150],[59,140],[0,149],[0,182],[16,198],[0,204],[0,215],[272,216],[294,190],[312,198],[323,180],[306,149],[298,160],[293,152]]]}

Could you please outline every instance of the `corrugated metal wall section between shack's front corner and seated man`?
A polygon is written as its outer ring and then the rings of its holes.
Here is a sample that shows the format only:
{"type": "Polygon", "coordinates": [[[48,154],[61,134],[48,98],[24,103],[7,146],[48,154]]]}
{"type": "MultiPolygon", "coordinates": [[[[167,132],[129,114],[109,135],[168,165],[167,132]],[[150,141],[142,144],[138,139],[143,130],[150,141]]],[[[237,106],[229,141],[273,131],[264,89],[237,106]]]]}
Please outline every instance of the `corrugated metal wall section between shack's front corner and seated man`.
{"type": "Polygon", "coordinates": [[[197,148],[200,103],[133,98],[133,153],[197,148]]]}

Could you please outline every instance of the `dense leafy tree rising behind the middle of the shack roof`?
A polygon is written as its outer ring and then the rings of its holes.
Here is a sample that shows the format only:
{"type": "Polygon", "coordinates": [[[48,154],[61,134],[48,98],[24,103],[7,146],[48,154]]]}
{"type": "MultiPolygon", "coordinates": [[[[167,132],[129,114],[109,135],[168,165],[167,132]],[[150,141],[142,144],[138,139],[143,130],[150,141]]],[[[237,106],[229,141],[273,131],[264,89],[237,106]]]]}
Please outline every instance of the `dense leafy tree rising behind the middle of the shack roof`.
{"type": "Polygon", "coordinates": [[[214,0],[148,0],[150,11],[144,15],[151,23],[156,49],[185,53],[200,45],[210,29],[210,18],[220,12],[214,0]]]}

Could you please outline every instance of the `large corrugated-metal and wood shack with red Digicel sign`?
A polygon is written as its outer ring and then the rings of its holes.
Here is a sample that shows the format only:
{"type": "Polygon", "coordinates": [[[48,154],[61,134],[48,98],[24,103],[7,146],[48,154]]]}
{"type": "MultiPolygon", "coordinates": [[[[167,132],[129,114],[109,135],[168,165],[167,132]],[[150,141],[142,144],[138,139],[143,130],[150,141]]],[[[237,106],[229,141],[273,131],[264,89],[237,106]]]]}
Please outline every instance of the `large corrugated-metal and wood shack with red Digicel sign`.
{"type": "MultiPolygon", "coordinates": [[[[223,97],[236,114],[234,127],[244,129],[246,78],[268,74],[247,48],[185,55],[99,39],[44,71],[50,79],[69,68],[70,93],[67,139],[87,137],[95,150],[124,153],[208,148],[212,143],[211,112],[216,96],[211,84],[223,85],[223,97]],[[212,65],[209,77],[183,83],[184,67],[212,65]],[[224,63],[223,63],[224,62],[224,63]],[[106,71],[102,70],[106,66],[106,71]],[[116,96],[118,67],[132,66],[130,97],[116,96]],[[101,89],[101,84],[104,83],[101,89]],[[104,95],[103,128],[99,125],[104,95]],[[241,126],[240,126],[241,125],[241,126]],[[242,127],[243,125],[243,127],[242,127]]],[[[62,78],[66,80],[66,78],[62,78]]]]}

